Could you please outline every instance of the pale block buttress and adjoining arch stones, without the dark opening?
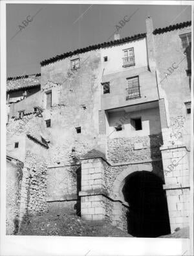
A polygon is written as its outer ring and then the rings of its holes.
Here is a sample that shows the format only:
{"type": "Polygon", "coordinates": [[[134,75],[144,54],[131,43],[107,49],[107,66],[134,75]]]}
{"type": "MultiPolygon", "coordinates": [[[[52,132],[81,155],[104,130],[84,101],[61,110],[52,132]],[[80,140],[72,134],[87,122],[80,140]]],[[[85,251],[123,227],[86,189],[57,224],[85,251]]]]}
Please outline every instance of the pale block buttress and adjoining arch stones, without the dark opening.
{"type": "MultiPolygon", "coordinates": [[[[154,162],[155,163],[155,162],[154,162]]],[[[133,172],[154,172],[161,177],[162,163],[126,164],[111,166],[103,158],[81,160],[81,218],[109,220],[126,231],[129,205],[121,192],[125,179],[133,172]],[[161,170],[160,170],[161,168],[161,170]]]]}

